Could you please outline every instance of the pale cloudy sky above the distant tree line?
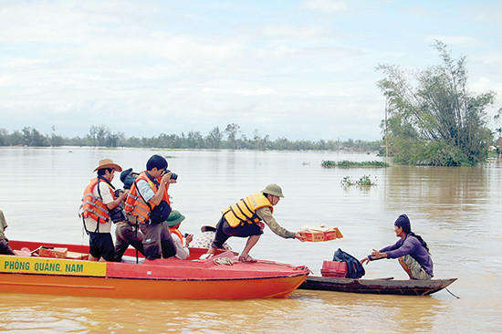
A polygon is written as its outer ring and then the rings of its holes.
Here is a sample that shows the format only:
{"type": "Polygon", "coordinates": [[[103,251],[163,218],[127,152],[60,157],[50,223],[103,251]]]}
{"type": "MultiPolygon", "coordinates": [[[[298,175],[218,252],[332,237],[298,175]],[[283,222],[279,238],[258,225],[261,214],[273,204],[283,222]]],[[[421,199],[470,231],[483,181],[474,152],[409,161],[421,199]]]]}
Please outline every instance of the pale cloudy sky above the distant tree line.
{"type": "MultiPolygon", "coordinates": [[[[466,57],[502,107],[497,0],[0,0],[0,129],[382,139],[379,65],[466,57]]],[[[498,125],[500,126],[500,125],[498,125]]],[[[492,127],[495,129],[496,125],[492,127]]]]}

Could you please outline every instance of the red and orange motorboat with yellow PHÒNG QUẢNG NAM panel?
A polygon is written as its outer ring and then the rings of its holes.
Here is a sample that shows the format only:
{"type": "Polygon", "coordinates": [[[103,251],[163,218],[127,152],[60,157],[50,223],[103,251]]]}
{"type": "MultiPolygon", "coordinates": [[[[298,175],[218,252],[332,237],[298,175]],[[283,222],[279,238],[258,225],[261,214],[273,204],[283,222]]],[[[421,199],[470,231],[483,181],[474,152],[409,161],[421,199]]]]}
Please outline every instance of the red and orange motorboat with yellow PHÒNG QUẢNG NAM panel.
{"type": "MultiPolygon", "coordinates": [[[[309,275],[306,266],[270,261],[235,262],[233,252],[208,260],[142,259],[142,263],[91,262],[75,259],[87,245],[10,240],[27,256],[0,256],[0,293],[152,299],[241,299],[288,297],[309,275]],[[68,249],[71,258],[30,256],[40,246],[68,249]],[[222,261],[218,261],[218,259],[222,261]]],[[[206,250],[193,249],[193,256],[206,250]]],[[[21,254],[21,253],[20,253],[21,254]]],[[[132,256],[129,249],[126,256],[132,256]]]]}

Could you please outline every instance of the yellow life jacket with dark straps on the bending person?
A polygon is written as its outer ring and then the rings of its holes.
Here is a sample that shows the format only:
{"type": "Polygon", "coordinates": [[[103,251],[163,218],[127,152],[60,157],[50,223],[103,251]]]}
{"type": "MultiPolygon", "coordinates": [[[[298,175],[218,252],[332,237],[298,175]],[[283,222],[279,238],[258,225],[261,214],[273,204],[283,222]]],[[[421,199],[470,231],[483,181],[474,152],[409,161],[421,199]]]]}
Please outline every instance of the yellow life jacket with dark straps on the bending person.
{"type": "Polygon", "coordinates": [[[274,213],[274,207],[263,193],[253,193],[236,204],[227,207],[222,211],[222,214],[231,227],[242,226],[246,223],[256,224],[261,221],[256,214],[256,210],[265,206],[268,206],[270,211],[274,213]]]}

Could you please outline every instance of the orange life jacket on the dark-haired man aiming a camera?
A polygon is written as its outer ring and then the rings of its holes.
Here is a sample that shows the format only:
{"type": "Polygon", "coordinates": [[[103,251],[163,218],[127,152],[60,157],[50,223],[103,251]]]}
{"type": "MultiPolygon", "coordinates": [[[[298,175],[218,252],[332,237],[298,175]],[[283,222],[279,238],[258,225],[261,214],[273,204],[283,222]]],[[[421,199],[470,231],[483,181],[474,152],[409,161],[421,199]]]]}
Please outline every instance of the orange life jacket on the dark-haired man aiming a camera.
{"type": "MultiPolygon", "coordinates": [[[[146,171],[141,172],[131,185],[131,189],[129,190],[125,200],[124,210],[126,214],[137,216],[139,223],[147,224],[150,221],[150,213],[156,205],[145,202],[144,198],[141,196],[137,187],[137,182],[140,180],[146,181],[150,185],[150,188],[152,188],[153,193],[157,193],[157,190],[159,189],[159,181],[149,176],[146,171]]],[[[167,193],[167,187],[165,188],[166,189],[164,189],[164,193],[162,195],[162,201],[166,201],[167,204],[170,204],[171,206],[169,194],[167,193]]]]}

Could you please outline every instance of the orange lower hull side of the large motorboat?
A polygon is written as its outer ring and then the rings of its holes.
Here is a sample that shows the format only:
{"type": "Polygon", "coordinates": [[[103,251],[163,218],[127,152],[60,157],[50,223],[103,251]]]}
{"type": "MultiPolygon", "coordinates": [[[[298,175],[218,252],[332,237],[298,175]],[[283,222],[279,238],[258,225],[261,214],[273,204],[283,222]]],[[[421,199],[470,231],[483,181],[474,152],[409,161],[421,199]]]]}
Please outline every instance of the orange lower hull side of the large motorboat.
{"type": "Polygon", "coordinates": [[[0,274],[0,293],[144,299],[288,297],[305,277],[215,280],[60,277],[0,274]]]}

